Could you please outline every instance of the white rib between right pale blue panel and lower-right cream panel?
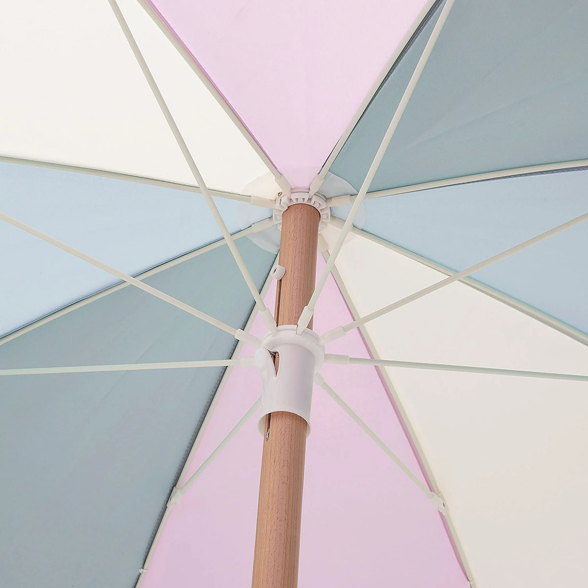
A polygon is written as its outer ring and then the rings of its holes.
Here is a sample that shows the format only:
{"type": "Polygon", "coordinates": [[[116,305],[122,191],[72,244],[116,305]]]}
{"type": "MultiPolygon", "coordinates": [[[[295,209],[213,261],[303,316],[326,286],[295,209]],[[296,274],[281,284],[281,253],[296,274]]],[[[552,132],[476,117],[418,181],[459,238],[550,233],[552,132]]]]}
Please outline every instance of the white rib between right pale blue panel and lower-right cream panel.
{"type": "MultiPolygon", "coordinates": [[[[343,220],[336,218],[335,216],[331,216],[330,224],[340,229],[343,226],[343,220]]],[[[419,255],[418,253],[410,251],[409,249],[400,247],[400,245],[396,245],[396,243],[390,243],[386,239],[382,239],[381,237],[372,235],[372,233],[368,233],[365,230],[358,229],[355,226],[353,227],[353,229],[351,229],[351,232],[355,235],[359,235],[363,239],[371,241],[372,243],[377,243],[377,245],[381,245],[386,249],[390,249],[390,251],[399,253],[399,255],[402,255],[403,257],[412,259],[413,261],[416,261],[418,263],[422,263],[422,265],[427,266],[427,268],[431,268],[436,270],[437,272],[444,273],[446,276],[453,276],[457,273],[455,269],[447,268],[446,266],[441,265],[440,263],[425,258],[422,255],[419,255]]],[[[333,267],[333,272],[335,272],[335,267],[333,267]]],[[[333,275],[335,274],[333,273],[333,275]]],[[[498,300],[499,302],[502,302],[503,304],[510,306],[510,308],[514,308],[515,310],[522,312],[524,315],[530,316],[531,318],[538,320],[540,323],[543,323],[543,325],[546,325],[552,329],[557,330],[560,333],[563,333],[563,335],[566,335],[569,338],[574,339],[579,343],[582,343],[582,345],[588,346],[588,335],[586,335],[586,333],[583,333],[578,329],[575,329],[573,326],[567,325],[567,323],[564,323],[561,320],[554,318],[553,316],[547,315],[541,310],[533,308],[533,306],[529,306],[528,304],[525,304],[524,302],[521,302],[516,298],[512,298],[512,296],[509,296],[504,292],[500,292],[499,290],[496,290],[495,288],[492,288],[487,284],[478,282],[474,278],[469,278],[468,276],[466,276],[465,278],[461,278],[459,281],[465,284],[466,286],[469,286],[470,288],[473,288],[478,292],[485,294],[486,296],[490,296],[490,298],[494,298],[495,300],[498,300]]]]}

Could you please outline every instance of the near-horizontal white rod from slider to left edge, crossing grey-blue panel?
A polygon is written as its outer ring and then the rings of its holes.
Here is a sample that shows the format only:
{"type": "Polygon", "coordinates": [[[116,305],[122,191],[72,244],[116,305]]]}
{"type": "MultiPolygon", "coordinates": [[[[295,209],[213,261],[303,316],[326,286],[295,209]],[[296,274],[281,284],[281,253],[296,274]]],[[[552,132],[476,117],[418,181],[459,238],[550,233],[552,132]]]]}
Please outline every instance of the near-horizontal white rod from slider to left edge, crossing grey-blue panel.
{"type": "Polygon", "coordinates": [[[60,368],[0,369],[0,376],[33,376],[54,373],[137,372],[141,370],[220,368],[222,366],[253,365],[253,358],[203,359],[193,362],[115,363],[101,366],[62,366],[60,368]]]}

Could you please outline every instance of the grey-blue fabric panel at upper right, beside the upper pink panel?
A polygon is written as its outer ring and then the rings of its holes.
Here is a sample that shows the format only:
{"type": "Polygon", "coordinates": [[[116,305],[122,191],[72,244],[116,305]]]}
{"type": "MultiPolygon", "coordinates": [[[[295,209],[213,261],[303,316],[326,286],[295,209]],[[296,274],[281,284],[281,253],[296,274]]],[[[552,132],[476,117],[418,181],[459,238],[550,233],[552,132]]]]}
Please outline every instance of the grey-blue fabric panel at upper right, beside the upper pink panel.
{"type": "MultiPolygon", "coordinates": [[[[588,158],[587,30],[582,0],[455,2],[370,191],[588,158]]],[[[356,189],[425,37],[427,31],[330,169],[356,189]]]]}

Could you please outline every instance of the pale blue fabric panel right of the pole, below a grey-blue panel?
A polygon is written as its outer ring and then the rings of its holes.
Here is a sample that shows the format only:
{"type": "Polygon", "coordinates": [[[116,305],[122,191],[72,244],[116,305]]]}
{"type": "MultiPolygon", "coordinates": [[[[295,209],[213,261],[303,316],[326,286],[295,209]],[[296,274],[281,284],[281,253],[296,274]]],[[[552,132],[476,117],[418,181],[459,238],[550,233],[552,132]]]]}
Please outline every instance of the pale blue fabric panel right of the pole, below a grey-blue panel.
{"type": "MultiPolygon", "coordinates": [[[[588,212],[588,171],[448,186],[364,206],[363,230],[462,270],[588,212]]],[[[348,209],[332,212],[346,218],[348,209]]],[[[584,221],[472,277],[588,333],[587,251],[584,221]]]]}

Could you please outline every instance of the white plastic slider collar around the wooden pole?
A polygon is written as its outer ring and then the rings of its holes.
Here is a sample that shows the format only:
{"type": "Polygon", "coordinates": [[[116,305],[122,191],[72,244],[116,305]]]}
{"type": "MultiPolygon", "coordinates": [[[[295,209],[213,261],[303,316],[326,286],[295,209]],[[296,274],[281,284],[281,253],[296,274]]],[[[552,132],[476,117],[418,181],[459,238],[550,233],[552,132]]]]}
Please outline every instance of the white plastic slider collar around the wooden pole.
{"type": "Polygon", "coordinates": [[[325,360],[325,348],[310,329],[296,335],[296,325],[281,325],[262,340],[255,352],[255,363],[263,380],[261,416],[258,423],[263,435],[265,416],[272,412],[291,412],[306,420],[310,434],[310,403],[315,373],[325,360]],[[279,353],[276,373],[270,352],[279,353]]]}

